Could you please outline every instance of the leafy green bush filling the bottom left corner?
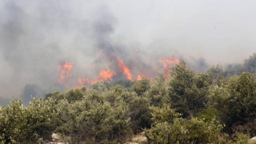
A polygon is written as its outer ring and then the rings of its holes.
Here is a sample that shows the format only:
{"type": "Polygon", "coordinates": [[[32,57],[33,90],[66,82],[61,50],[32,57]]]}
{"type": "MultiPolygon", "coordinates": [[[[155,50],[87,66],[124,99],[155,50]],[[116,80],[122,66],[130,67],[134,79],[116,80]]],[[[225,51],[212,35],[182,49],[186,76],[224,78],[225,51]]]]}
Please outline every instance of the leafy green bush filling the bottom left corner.
{"type": "Polygon", "coordinates": [[[5,143],[39,143],[49,139],[55,129],[57,113],[51,102],[41,98],[24,107],[19,100],[0,108],[0,141],[5,143]]]}

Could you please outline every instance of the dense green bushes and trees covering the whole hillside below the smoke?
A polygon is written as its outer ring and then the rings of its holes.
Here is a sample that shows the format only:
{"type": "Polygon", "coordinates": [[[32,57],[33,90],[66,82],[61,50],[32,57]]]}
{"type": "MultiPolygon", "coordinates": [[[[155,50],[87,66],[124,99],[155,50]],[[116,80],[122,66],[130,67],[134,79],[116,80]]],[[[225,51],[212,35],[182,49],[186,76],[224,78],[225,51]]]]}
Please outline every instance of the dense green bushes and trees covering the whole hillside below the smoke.
{"type": "Polygon", "coordinates": [[[248,144],[256,135],[256,54],[243,65],[196,73],[184,62],[165,81],[95,83],[0,106],[0,143],[34,144],[53,132],[69,143],[248,144]],[[236,75],[234,75],[236,74],[236,75]]]}

